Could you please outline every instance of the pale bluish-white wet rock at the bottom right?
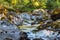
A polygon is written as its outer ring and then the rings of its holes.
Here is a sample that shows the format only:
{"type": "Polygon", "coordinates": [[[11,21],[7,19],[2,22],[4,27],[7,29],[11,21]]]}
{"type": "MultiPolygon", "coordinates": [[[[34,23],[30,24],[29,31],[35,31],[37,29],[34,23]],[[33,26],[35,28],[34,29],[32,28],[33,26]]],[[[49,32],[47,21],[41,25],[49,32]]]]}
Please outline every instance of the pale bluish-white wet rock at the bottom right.
{"type": "Polygon", "coordinates": [[[27,33],[28,35],[28,38],[30,38],[31,40],[54,40],[55,38],[57,38],[57,35],[58,35],[58,32],[54,32],[52,30],[47,30],[47,29],[44,29],[44,30],[40,30],[38,32],[29,32],[27,33]],[[35,39],[37,38],[37,39],[35,39]],[[41,39],[40,39],[41,38],[41,39]]]}

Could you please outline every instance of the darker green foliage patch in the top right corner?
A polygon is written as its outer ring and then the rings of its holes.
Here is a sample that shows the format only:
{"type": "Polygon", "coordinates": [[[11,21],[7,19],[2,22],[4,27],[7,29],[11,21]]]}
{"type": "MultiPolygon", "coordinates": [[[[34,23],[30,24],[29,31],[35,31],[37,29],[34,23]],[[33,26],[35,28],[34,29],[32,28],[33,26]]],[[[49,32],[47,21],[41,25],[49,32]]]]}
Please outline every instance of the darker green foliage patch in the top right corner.
{"type": "Polygon", "coordinates": [[[48,0],[46,6],[48,9],[54,9],[56,7],[60,7],[60,1],[59,0],[48,0]]]}

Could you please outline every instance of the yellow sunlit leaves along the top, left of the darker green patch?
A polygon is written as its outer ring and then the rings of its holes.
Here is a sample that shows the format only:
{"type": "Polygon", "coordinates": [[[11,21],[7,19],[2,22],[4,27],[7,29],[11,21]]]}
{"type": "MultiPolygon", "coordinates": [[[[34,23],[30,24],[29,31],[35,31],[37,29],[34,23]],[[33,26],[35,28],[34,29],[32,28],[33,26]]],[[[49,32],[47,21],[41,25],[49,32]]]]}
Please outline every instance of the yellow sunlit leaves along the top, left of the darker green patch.
{"type": "Polygon", "coordinates": [[[3,0],[2,4],[8,8],[29,9],[46,8],[45,0],[3,0]]]}

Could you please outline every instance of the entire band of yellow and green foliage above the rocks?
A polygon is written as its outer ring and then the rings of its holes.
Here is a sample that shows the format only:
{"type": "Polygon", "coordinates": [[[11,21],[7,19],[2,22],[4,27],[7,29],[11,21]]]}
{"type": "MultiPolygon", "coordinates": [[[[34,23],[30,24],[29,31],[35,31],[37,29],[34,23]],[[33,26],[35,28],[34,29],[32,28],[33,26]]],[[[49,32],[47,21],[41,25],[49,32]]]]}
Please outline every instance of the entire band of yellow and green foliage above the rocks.
{"type": "Polygon", "coordinates": [[[60,0],[0,0],[0,4],[21,11],[32,11],[39,8],[54,9],[60,7],[60,0]]]}

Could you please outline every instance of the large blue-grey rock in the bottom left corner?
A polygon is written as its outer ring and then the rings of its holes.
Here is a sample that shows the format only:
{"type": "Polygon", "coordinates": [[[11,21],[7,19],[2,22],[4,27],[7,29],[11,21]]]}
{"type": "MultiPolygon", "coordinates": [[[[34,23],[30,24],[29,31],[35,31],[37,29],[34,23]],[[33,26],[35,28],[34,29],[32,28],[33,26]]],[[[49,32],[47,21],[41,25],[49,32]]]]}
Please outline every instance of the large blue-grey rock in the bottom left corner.
{"type": "MultiPolygon", "coordinates": [[[[8,23],[8,22],[7,22],[8,23]]],[[[16,25],[6,24],[6,22],[0,21],[0,40],[5,38],[11,38],[13,40],[19,39],[20,30],[16,25]]]]}

